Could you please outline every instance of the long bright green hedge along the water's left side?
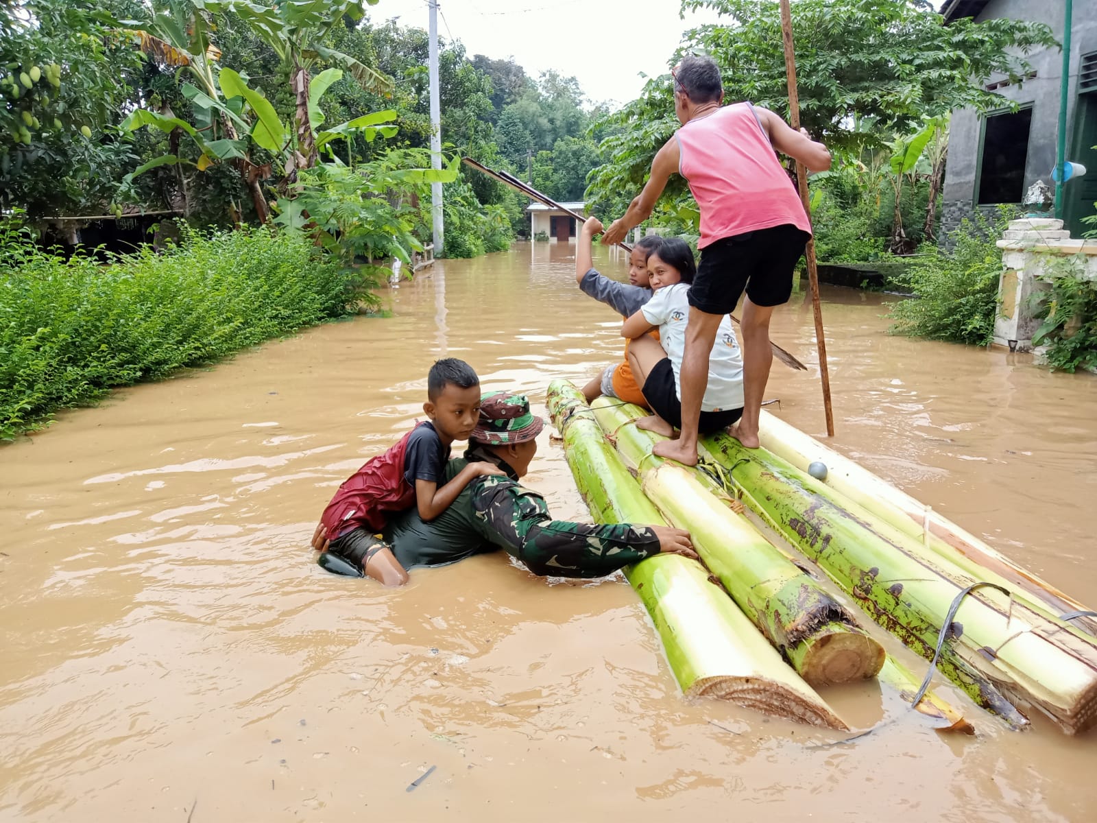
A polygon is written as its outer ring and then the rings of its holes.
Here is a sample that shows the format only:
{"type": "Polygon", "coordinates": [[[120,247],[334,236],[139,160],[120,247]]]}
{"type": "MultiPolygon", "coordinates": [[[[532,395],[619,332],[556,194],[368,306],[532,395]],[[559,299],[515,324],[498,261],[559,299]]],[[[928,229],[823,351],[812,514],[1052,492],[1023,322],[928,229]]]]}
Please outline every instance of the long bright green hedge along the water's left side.
{"type": "Polygon", "coordinates": [[[267,229],[184,233],[103,264],[65,260],[0,223],[0,439],[372,301],[307,240],[267,229]]]}

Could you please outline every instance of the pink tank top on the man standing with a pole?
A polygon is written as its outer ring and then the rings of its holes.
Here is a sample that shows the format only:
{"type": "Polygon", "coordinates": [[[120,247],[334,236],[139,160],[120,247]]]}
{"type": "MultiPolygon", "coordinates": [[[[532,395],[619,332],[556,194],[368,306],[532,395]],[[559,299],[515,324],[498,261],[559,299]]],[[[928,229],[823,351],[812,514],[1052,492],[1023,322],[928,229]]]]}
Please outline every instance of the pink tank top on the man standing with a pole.
{"type": "Polygon", "coordinates": [[[698,248],[787,223],[811,233],[800,194],[750,103],[690,121],[677,137],[678,171],[701,210],[698,248]]]}

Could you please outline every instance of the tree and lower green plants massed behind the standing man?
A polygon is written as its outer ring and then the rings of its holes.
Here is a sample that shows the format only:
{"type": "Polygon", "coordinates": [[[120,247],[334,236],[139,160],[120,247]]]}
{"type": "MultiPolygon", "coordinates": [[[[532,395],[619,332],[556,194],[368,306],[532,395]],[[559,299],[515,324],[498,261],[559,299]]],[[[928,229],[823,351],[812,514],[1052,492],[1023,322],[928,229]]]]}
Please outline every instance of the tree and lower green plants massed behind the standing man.
{"type": "MultiPolygon", "coordinates": [[[[711,55],[721,66],[726,101],[749,100],[788,117],[778,2],[682,2],[683,9],[702,7],[726,22],[686,32],[670,64],[682,54],[711,55]]],[[[1002,97],[983,81],[992,74],[1020,81],[1030,69],[1024,55],[1055,45],[1042,24],[966,19],[945,26],[919,0],[799,0],[792,23],[801,122],[835,156],[834,171],[813,183],[824,192],[823,259],[909,252],[931,239],[946,149],[937,119],[957,108],[1000,108],[1002,97]]],[[[619,215],[677,127],[669,74],[652,78],[638,99],[597,121],[592,132],[602,137],[607,162],[590,176],[592,207],[619,215]]],[[[691,208],[685,181],[672,178],[652,225],[688,222],[691,208]]]]}

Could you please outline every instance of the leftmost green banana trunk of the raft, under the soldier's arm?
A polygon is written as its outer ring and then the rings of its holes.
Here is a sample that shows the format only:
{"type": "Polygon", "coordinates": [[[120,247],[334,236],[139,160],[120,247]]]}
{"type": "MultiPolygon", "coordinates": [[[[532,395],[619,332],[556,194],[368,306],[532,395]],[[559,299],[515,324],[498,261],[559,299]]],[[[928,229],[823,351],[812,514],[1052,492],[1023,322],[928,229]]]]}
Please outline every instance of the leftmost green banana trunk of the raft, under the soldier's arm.
{"type": "MultiPolygon", "coordinates": [[[[568,466],[600,522],[665,525],[602,436],[583,395],[554,381],[548,412],[568,466]]],[[[694,560],[659,554],[624,570],[655,623],[682,691],[711,695],[767,714],[848,729],[694,560]]]]}

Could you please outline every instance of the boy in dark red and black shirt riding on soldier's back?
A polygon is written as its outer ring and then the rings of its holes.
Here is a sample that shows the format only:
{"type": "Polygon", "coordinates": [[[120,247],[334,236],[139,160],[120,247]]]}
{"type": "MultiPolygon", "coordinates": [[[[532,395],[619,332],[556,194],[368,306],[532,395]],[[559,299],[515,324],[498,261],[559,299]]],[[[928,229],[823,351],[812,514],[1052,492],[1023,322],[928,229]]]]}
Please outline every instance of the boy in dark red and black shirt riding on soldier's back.
{"type": "Polygon", "coordinates": [[[332,548],[386,585],[406,583],[407,573],[375,537],[389,516],[414,505],[419,517],[432,520],[474,477],[502,473],[493,463],[477,461],[445,482],[450,444],[468,439],[479,420],[479,377],[472,367],[455,358],[437,361],[427,377],[422,406],[430,420],[348,477],[324,509],[320,523],[333,535],[332,548]]]}

